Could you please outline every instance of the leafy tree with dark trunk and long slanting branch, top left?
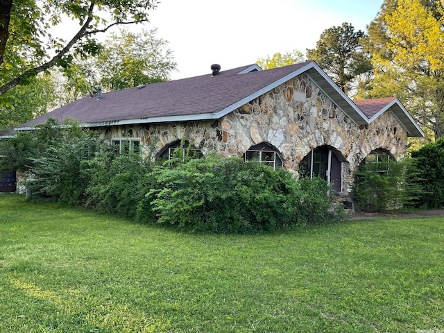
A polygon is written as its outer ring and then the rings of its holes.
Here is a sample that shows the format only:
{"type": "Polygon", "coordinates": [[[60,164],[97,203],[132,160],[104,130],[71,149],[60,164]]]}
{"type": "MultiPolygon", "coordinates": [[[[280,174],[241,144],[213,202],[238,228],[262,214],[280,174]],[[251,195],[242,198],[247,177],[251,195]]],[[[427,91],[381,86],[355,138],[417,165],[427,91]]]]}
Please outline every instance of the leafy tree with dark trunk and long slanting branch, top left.
{"type": "Polygon", "coordinates": [[[146,22],[156,2],[0,0],[0,95],[51,67],[69,69],[74,54],[96,53],[97,33],[118,24],[146,22]],[[51,26],[59,28],[65,16],[79,24],[68,42],[51,35],[51,26]]]}

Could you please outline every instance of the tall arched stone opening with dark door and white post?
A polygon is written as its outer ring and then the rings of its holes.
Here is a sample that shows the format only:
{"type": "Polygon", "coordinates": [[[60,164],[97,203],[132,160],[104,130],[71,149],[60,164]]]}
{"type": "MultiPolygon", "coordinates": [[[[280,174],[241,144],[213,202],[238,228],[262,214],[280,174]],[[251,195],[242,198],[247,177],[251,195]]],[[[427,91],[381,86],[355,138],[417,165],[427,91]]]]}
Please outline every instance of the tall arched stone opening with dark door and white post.
{"type": "Polygon", "coordinates": [[[329,146],[312,149],[299,163],[301,177],[319,177],[332,183],[334,194],[341,192],[343,160],[339,151],[329,146]],[[341,157],[341,158],[339,158],[341,157]]]}

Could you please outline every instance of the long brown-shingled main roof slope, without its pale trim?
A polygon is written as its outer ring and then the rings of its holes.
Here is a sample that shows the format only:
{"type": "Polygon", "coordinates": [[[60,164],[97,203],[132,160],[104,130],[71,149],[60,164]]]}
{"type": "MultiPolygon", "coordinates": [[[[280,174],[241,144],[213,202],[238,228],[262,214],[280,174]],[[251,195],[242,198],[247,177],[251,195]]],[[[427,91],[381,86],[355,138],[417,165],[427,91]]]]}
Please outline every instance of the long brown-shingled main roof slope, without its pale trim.
{"type": "Polygon", "coordinates": [[[103,99],[87,96],[62,108],[37,117],[20,127],[44,123],[47,117],[62,121],[78,119],[80,123],[106,123],[131,119],[180,117],[214,114],[245,99],[283,76],[296,71],[307,62],[268,71],[238,74],[249,65],[212,76],[203,76],[153,83],[139,89],[133,87],[103,94],[103,99]]]}

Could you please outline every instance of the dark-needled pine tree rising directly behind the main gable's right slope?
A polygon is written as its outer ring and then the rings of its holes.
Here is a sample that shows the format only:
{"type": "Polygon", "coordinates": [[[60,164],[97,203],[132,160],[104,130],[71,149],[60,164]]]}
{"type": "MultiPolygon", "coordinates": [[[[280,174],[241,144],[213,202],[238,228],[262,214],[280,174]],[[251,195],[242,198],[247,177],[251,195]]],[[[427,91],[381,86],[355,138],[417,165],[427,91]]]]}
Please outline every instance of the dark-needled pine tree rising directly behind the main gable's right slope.
{"type": "Polygon", "coordinates": [[[361,42],[366,35],[355,31],[349,23],[325,30],[316,49],[307,49],[307,58],[314,60],[332,77],[345,94],[352,89],[352,81],[371,70],[370,55],[361,42]]]}

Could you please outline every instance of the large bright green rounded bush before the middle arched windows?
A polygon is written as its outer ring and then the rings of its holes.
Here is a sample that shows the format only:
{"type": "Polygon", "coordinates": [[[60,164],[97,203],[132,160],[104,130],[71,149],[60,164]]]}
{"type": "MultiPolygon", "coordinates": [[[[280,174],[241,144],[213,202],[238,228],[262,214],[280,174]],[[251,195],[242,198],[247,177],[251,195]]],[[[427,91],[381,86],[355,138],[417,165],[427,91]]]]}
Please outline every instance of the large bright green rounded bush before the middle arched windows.
{"type": "Polygon", "coordinates": [[[284,169],[208,157],[158,167],[147,196],[157,222],[192,231],[250,232],[334,219],[323,180],[296,181],[284,169]]]}

